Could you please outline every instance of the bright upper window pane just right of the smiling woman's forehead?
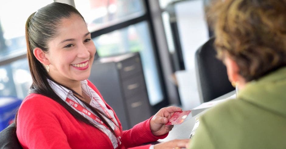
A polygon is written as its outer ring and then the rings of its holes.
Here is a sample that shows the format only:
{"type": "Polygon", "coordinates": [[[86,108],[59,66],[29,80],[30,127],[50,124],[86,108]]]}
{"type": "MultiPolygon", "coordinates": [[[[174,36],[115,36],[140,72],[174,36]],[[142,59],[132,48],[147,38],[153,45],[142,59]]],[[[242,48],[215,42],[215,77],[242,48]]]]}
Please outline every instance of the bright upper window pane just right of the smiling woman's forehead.
{"type": "Polygon", "coordinates": [[[107,27],[145,13],[142,0],[75,0],[89,31],[107,27]]]}

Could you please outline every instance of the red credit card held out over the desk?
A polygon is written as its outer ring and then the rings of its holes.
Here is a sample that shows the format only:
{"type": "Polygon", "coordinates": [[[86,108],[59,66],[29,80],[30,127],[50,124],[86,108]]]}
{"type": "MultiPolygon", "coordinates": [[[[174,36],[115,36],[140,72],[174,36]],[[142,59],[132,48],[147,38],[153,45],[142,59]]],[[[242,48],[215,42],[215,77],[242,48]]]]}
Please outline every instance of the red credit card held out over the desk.
{"type": "Polygon", "coordinates": [[[190,110],[188,111],[180,111],[175,112],[171,118],[169,119],[168,123],[165,125],[176,125],[176,124],[182,124],[183,121],[187,118],[187,116],[191,113],[190,110]]]}

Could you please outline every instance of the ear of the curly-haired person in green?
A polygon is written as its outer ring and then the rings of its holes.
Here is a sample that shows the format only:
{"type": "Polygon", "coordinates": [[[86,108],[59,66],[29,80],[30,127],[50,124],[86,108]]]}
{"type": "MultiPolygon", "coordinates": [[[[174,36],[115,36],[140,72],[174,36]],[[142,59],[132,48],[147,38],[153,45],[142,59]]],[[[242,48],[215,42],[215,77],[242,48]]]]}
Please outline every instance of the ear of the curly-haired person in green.
{"type": "Polygon", "coordinates": [[[239,75],[239,67],[237,63],[230,58],[229,56],[225,57],[225,66],[227,69],[227,75],[228,75],[228,80],[230,82],[238,82],[240,81],[240,75],[239,75]]]}

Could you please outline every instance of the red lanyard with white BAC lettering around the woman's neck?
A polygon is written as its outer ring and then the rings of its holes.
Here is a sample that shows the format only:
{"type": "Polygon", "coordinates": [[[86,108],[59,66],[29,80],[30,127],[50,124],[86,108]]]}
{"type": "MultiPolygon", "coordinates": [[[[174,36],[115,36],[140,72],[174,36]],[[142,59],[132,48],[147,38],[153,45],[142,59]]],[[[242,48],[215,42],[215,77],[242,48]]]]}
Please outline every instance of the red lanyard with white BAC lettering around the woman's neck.
{"type": "MultiPolygon", "coordinates": [[[[107,129],[109,129],[107,127],[106,124],[103,123],[103,121],[100,120],[100,118],[98,118],[96,115],[92,114],[90,111],[88,111],[86,108],[82,107],[80,104],[76,103],[75,101],[66,98],[66,100],[68,102],[68,104],[72,105],[76,110],[84,113],[85,115],[89,116],[90,118],[92,118],[93,120],[97,121],[99,124],[102,124],[104,127],[106,127],[107,129]]],[[[99,103],[98,103],[99,104],[99,103]]],[[[101,104],[99,104],[101,108],[103,108],[103,106],[101,104]]],[[[121,131],[119,129],[119,127],[116,125],[114,119],[111,117],[111,115],[106,111],[105,108],[103,108],[103,111],[105,112],[105,114],[107,115],[108,118],[111,119],[111,121],[114,123],[115,128],[114,128],[114,132],[115,135],[117,137],[117,143],[118,143],[118,147],[120,148],[121,146],[121,131]]],[[[117,147],[117,148],[118,148],[117,147]]],[[[122,148],[122,147],[121,147],[122,148]]],[[[124,147],[123,147],[124,148],[124,147]]]]}

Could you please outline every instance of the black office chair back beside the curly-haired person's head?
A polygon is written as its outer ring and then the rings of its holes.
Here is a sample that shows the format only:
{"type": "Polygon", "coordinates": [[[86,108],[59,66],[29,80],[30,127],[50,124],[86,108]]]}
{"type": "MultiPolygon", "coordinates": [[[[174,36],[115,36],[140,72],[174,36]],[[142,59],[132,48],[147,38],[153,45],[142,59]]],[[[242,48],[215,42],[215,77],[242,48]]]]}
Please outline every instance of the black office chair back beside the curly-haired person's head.
{"type": "Polygon", "coordinates": [[[195,68],[201,103],[235,90],[228,80],[225,65],[216,58],[215,38],[210,38],[197,49],[195,68]]]}

